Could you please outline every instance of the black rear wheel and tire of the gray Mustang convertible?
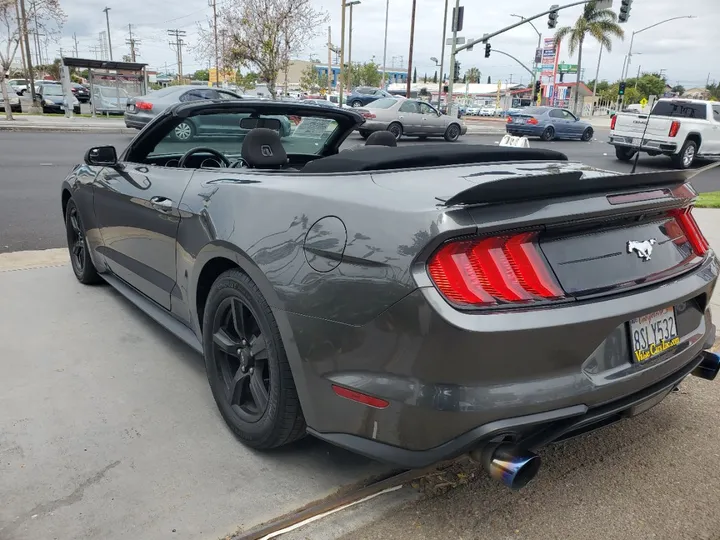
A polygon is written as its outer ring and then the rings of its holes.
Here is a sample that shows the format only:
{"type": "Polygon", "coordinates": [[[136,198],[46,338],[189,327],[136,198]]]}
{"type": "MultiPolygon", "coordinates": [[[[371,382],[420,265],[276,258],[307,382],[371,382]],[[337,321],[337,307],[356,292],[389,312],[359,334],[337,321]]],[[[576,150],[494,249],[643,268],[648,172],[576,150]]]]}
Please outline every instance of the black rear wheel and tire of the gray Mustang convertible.
{"type": "Polygon", "coordinates": [[[305,435],[305,419],[275,317],[257,285],[238,269],[222,274],[210,289],[203,351],[220,414],[244,444],[270,449],[305,435]],[[242,325],[235,324],[236,314],[242,314],[242,325]],[[233,392],[230,383],[238,378],[242,386],[235,384],[233,392]]]}

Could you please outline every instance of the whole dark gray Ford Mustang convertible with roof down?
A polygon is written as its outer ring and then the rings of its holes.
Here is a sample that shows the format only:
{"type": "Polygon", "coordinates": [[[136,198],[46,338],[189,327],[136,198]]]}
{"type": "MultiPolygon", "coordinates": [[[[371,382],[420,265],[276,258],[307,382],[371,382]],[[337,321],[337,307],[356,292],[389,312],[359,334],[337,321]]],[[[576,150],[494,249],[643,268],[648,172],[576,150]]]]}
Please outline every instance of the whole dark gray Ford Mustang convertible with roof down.
{"type": "Polygon", "coordinates": [[[182,103],[62,184],[77,279],[202,353],[244,443],[310,433],[407,468],[469,453],[516,488],[542,446],[715,377],[719,265],[692,172],[384,133],[341,151],[363,122],[182,103]],[[173,136],[209,116],[239,129],[173,136]]]}

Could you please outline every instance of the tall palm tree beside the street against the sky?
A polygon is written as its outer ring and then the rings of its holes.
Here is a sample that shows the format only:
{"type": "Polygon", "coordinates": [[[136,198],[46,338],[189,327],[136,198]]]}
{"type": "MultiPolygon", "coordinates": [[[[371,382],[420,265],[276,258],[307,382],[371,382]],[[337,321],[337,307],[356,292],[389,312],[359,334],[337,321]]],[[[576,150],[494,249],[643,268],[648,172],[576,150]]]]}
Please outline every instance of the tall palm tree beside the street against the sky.
{"type": "Polygon", "coordinates": [[[582,48],[585,38],[591,36],[600,43],[600,48],[612,50],[611,37],[625,37],[625,31],[617,23],[617,15],[611,9],[598,9],[595,2],[585,4],[583,14],[575,21],[575,26],[563,26],[555,32],[555,41],[560,43],[569,38],[570,54],[578,51],[578,74],[575,88],[573,112],[577,114],[577,102],[580,95],[580,74],[582,73],[582,48]]]}

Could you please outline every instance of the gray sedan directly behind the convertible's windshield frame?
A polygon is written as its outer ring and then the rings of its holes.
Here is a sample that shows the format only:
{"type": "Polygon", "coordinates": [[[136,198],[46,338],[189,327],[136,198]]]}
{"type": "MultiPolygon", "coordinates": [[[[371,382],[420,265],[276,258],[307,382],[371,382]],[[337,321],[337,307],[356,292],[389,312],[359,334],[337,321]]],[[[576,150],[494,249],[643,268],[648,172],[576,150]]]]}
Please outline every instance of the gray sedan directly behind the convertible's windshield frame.
{"type": "MultiPolygon", "coordinates": [[[[168,86],[144,96],[129,98],[125,105],[125,125],[129,128],[142,129],[168,107],[204,99],[235,100],[243,98],[235,92],[221,88],[193,85],[168,86]]],[[[191,131],[185,130],[185,133],[192,135],[191,131]]]]}

